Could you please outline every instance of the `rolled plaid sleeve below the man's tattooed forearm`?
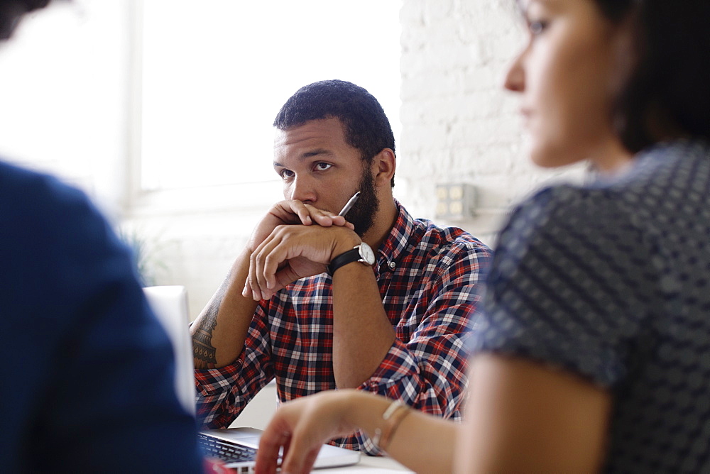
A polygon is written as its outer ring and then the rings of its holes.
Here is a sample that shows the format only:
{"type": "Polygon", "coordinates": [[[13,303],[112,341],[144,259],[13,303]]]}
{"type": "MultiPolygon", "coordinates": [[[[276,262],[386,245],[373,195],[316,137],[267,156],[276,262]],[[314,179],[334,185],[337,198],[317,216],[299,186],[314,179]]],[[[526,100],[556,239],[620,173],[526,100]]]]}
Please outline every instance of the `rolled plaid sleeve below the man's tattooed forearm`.
{"type": "Polygon", "coordinates": [[[208,429],[228,428],[246,404],[273,379],[268,301],[256,307],[244,351],[230,365],[195,369],[197,419],[208,429]]]}

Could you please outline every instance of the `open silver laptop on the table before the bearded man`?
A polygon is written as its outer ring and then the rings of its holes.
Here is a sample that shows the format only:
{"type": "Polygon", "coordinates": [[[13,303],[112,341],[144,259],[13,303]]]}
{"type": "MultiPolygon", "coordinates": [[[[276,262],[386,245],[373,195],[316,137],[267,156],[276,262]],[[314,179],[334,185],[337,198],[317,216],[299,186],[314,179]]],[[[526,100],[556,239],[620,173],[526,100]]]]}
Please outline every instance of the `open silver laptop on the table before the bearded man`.
{"type": "MultiPolygon", "coordinates": [[[[160,323],[165,326],[175,351],[175,392],[187,412],[195,415],[195,374],[192,360],[192,339],[188,324],[187,291],[185,287],[158,286],[143,288],[148,302],[160,323]]],[[[239,473],[253,473],[256,449],[261,430],[227,428],[200,431],[198,439],[207,456],[222,459],[226,466],[239,473]]],[[[314,468],[334,468],[360,461],[359,451],[324,444],[314,468]]]]}

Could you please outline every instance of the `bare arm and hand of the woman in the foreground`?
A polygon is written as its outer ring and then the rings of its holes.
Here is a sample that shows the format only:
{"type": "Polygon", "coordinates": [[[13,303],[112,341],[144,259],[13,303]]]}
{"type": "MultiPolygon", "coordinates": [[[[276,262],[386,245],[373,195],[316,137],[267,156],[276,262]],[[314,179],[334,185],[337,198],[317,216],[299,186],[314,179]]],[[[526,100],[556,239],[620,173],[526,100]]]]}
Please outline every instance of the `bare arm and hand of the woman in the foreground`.
{"type": "MultiPolygon", "coordinates": [[[[575,375],[522,359],[478,355],[471,365],[466,421],[427,414],[403,418],[386,447],[422,473],[599,470],[605,455],[611,395],[575,375]],[[454,447],[456,448],[454,463],[454,447]]],[[[320,446],[363,429],[383,430],[392,401],[357,390],[321,392],[283,404],[261,437],[258,473],[308,473],[320,446]]]]}

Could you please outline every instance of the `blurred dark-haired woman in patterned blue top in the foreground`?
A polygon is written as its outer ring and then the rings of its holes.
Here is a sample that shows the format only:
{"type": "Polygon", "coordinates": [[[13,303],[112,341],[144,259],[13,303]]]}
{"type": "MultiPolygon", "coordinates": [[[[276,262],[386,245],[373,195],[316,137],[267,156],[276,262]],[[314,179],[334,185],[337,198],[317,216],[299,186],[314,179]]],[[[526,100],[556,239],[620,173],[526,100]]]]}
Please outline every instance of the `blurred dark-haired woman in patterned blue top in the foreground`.
{"type": "Polygon", "coordinates": [[[258,469],[363,429],[426,473],[710,470],[710,2],[520,0],[543,189],[501,232],[463,425],[356,391],[281,407],[258,469]]]}

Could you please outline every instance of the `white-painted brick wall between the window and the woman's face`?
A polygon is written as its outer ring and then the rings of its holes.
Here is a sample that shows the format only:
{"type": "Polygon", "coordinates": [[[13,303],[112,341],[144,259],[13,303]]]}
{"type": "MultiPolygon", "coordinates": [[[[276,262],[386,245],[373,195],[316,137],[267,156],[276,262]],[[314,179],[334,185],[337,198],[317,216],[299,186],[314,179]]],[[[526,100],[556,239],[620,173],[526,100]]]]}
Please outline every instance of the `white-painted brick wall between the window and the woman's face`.
{"type": "Polygon", "coordinates": [[[396,180],[405,189],[398,197],[413,214],[431,217],[435,184],[473,184],[476,216],[449,224],[493,243],[510,205],[559,175],[525,158],[518,100],[503,91],[506,68],[525,40],[515,2],[404,0],[400,21],[396,180]]]}

